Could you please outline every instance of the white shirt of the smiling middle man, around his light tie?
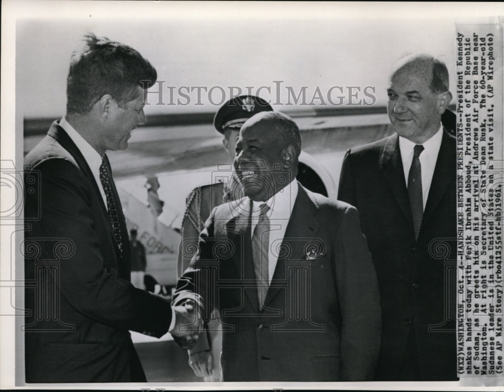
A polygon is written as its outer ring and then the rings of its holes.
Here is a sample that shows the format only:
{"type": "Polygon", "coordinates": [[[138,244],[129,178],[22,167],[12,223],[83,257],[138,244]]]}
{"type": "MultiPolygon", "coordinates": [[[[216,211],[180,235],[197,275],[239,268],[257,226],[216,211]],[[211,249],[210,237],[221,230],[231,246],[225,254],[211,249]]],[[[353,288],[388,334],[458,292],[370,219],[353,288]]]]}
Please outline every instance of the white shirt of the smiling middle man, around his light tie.
{"type": "Polygon", "coordinates": [[[254,229],[259,221],[260,207],[266,203],[270,209],[267,217],[270,220],[270,237],[268,246],[268,278],[271,284],[273,273],[277,266],[278,249],[285,236],[285,230],[289,224],[292,208],[296,201],[298,191],[297,180],[294,178],[288,185],[280,189],[266,202],[252,202],[252,225],[251,235],[254,235],[254,229]]]}

